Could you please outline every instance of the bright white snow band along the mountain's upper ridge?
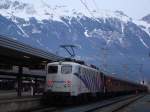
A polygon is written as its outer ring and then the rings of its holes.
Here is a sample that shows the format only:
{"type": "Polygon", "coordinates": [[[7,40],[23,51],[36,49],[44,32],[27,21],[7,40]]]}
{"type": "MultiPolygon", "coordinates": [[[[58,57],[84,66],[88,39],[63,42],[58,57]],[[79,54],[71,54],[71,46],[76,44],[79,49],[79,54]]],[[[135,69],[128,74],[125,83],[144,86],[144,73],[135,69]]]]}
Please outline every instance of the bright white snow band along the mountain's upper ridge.
{"type": "Polygon", "coordinates": [[[21,0],[1,0],[0,1],[0,13],[9,17],[21,17],[25,20],[29,20],[35,17],[37,20],[57,20],[62,21],[61,17],[117,17],[122,20],[128,21],[130,18],[121,11],[96,11],[91,12],[78,12],[76,9],[68,9],[65,5],[49,5],[43,0],[37,0],[38,4],[23,3],[21,0]],[[84,14],[83,14],[84,13],[84,14]]]}

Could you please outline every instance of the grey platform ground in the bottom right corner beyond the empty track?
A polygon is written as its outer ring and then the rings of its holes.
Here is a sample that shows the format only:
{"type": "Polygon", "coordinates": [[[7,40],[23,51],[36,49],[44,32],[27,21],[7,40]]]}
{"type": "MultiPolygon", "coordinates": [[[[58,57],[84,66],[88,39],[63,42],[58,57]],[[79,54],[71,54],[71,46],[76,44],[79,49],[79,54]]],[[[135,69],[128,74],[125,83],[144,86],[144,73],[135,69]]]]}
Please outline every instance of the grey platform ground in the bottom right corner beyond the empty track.
{"type": "Polygon", "coordinates": [[[124,108],[121,112],[150,112],[150,94],[124,108]]]}

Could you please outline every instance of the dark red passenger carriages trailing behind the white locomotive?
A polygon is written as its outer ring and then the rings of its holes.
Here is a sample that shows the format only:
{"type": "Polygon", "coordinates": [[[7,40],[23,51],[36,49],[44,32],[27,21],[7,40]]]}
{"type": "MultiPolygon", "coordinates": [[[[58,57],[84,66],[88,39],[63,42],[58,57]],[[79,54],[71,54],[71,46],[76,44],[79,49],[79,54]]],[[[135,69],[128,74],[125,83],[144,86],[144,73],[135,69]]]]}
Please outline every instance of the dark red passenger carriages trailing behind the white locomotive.
{"type": "Polygon", "coordinates": [[[147,91],[147,87],[144,85],[106,75],[104,75],[104,85],[105,93],[108,95],[122,95],[147,91]]]}

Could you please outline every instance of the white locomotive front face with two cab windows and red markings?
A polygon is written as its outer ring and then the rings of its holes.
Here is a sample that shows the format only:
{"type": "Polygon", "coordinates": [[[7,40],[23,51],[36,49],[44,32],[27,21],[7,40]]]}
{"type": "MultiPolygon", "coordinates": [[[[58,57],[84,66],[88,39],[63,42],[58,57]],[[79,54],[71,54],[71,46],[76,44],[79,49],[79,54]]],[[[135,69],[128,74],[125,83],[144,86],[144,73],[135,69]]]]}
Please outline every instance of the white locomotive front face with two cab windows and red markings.
{"type": "Polygon", "coordinates": [[[54,62],[47,65],[45,92],[50,96],[76,95],[73,74],[78,67],[72,62],[54,62]]]}

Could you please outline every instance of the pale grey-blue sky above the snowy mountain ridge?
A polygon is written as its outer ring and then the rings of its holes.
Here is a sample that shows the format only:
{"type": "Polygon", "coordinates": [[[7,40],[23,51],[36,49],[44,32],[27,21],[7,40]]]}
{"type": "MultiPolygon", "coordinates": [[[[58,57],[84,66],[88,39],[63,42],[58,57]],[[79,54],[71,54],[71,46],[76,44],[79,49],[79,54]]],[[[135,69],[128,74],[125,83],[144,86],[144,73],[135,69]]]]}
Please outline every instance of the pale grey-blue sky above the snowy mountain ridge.
{"type": "Polygon", "coordinates": [[[69,9],[87,10],[81,3],[87,4],[90,10],[121,10],[133,19],[141,19],[150,14],[150,0],[22,0],[40,4],[40,1],[47,2],[50,5],[65,5],[69,9]]]}

